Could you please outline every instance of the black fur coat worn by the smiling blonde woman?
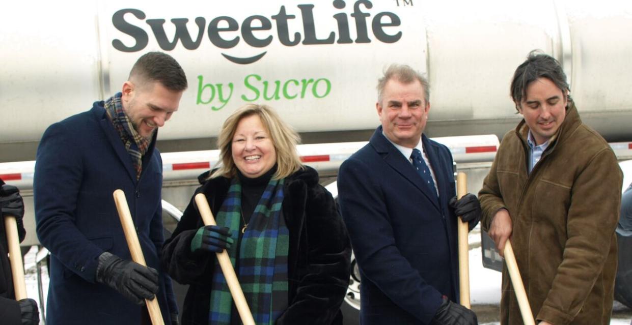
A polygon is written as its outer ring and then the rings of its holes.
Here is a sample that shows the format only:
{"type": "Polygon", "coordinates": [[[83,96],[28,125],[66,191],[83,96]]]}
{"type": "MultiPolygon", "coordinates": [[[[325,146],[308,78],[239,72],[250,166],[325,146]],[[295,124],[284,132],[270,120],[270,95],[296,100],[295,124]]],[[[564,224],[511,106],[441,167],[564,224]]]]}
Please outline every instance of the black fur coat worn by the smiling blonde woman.
{"type": "MultiPolygon", "coordinates": [[[[349,282],[351,244],[331,194],[305,167],[286,178],[283,216],[289,229],[288,309],[276,324],[342,324],[340,306],[349,282]]],[[[205,181],[204,193],[217,215],[230,179],[205,181]]],[[[191,239],[202,218],[191,199],[178,227],[162,250],[162,265],[173,280],[190,285],[182,312],[183,324],[208,324],[214,254],[191,254],[191,239]]]]}

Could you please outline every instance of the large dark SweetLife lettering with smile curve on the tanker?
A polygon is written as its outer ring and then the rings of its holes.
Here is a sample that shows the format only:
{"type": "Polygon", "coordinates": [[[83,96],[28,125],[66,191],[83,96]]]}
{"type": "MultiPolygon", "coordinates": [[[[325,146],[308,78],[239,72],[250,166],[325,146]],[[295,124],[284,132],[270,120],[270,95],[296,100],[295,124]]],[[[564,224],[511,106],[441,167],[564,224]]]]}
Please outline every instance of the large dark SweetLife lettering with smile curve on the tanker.
{"type": "Polygon", "coordinates": [[[252,15],[241,21],[241,24],[230,16],[217,16],[215,18],[200,16],[193,19],[197,28],[191,28],[191,31],[186,27],[189,18],[171,18],[171,24],[175,28],[173,35],[167,35],[165,31],[166,19],[164,18],[147,19],[147,15],[140,9],[120,9],[112,15],[112,24],[119,32],[132,37],[133,44],[125,44],[118,38],[114,38],[112,46],[121,52],[138,52],[147,47],[150,37],[154,37],[159,47],[165,51],[173,50],[176,46],[195,50],[202,44],[206,36],[210,43],[222,49],[221,55],[229,61],[236,64],[250,64],[264,57],[267,54],[265,47],[272,42],[280,42],[288,47],[362,44],[374,40],[394,43],[398,42],[402,36],[401,30],[398,28],[401,25],[399,16],[389,11],[382,11],[373,15],[371,1],[358,0],[353,3],[353,6],[347,8],[343,0],[334,0],[332,6],[334,7],[334,15],[329,19],[335,20],[335,30],[319,29],[318,33],[316,32],[317,28],[331,25],[330,23],[333,21],[324,21],[326,18],[319,18],[322,21],[315,20],[314,4],[298,4],[296,8],[291,9],[281,6],[278,12],[269,18],[263,15],[252,15]],[[290,30],[288,21],[296,19],[301,21],[302,29],[290,30]],[[276,27],[276,33],[273,32],[273,23],[276,27]],[[145,30],[146,25],[149,25],[150,31],[145,30]],[[351,38],[350,30],[355,31],[355,39],[351,38]],[[265,31],[269,31],[269,33],[265,33],[265,31]],[[241,36],[234,36],[236,32],[240,32],[241,36]],[[257,32],[257,36],[254,32],[257,32]],[[327,37],[318,38],[317,34],[327,35],[327,37]],[[242,41],[253,48],[262,49],[262,52],[249,57],[231,54],[231,49],[242,41]]]}

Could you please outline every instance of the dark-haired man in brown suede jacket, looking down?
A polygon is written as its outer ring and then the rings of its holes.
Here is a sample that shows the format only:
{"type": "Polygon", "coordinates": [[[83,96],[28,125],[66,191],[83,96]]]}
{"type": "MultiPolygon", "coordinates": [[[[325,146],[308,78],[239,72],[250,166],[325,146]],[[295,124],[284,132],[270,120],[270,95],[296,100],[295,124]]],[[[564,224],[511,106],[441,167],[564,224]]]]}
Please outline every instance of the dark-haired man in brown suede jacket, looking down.
{"type": "MultiPolygon", "coordinates": [[[[531,52],[511,97],[523,121],[502,138],[478,196],[500,252],[511,239],[538,324],[609,324],[622,174],[581,122],[556,59],[531,52]]],[[[522,324],[506,267],[501,324],[522,324]]]]}

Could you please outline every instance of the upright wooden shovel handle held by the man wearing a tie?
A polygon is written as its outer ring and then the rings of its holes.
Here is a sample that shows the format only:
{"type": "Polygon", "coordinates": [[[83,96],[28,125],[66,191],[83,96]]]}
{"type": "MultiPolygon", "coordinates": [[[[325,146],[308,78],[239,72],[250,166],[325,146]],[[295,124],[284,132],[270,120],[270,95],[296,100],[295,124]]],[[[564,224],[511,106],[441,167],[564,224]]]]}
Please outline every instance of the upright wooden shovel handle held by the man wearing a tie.
{"type": "MultiPolygon", "coordinates": [[[[461,199],[467,192],[468,176],[464,172],[456,175],[457,198],[461,199]]],[[[470,228],[467,222],[458,218],[459,232],[459,291],[461,293],[461,305],[471,309],[470,305],[470,245],[468,243],[468,233],[470,228]]]]}

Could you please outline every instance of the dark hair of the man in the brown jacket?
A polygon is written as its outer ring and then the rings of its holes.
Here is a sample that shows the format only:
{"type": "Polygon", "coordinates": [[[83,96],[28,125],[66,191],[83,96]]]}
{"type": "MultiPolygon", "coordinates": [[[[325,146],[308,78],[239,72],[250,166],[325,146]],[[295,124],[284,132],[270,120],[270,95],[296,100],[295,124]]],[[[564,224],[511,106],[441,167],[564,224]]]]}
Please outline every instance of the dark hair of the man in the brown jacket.
{"type": "Polygon", "coordinates": [[[547,78],[554,83],[566,96],[570,90],[566,81],[566,74],[561,64],[554,57],[544,54],[541,50],[532,50],[526,57],[526,61],[520,64],[511,80],[511,98],[516,103],[516,109],[522,99],[526,97],[526,88],[539,78],[547,78]]]}

